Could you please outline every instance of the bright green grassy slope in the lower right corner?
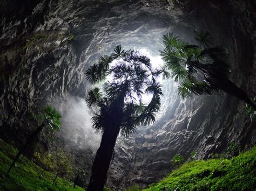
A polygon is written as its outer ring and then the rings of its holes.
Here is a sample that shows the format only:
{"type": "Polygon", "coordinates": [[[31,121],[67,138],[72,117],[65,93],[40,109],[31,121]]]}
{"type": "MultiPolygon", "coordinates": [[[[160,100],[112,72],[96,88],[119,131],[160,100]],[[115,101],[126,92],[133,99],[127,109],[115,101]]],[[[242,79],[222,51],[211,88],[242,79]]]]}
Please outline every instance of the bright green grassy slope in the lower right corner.
{"type": "Polygon", "coordinates": [[[149,190],[256,190],[256,146],[228,159],[190,161],[149,190]],[[179,188],[179,189],[177,189],[179,188]]]}

